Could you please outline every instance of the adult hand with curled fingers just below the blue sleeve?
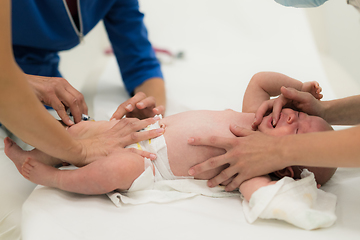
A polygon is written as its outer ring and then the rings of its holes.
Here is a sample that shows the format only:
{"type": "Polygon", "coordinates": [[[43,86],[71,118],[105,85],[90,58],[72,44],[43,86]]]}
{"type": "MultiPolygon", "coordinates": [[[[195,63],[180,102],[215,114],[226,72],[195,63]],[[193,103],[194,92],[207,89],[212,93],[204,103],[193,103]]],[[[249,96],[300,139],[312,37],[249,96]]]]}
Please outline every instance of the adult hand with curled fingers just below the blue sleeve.
{"type": "Polygon", "coordinates": [[[146,97],[145,93],[138,92],[120,104],[111,119],[121,119],[124,115],[144,119],[157,114],[164,114],[164,111],[164,106],[156,106],[154,97],[146,97]]]}

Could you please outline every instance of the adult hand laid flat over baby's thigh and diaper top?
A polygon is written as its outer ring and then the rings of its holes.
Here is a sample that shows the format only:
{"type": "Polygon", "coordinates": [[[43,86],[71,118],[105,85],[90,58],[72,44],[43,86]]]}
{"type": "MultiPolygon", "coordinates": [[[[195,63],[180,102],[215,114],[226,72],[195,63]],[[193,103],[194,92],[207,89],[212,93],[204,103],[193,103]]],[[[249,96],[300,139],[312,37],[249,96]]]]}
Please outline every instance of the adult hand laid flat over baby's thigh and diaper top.
{"type": "MultiPolygon", "coordinates": [[[[139,130],[155,123],[157,120],[158,118],[147,118],[144,120],[136,118],[123,118],[110,130],[93,134],[94,136],[92,137],[80,139],[83,146],[82,149],[85,151],[82,155],[85,160],[76,165],[86,165],[97,160],[99,157],[108,156],[112,152],[118,151],[119,148],[125,148],[125,146],[133,143],[159,137],[164,133],[163,128],[139,132],[139,130]]],[[[127,151],[135,152],[152,160],[156,158],[156,155],[153,153],[134,148],[129,148],[127,151]]]]}

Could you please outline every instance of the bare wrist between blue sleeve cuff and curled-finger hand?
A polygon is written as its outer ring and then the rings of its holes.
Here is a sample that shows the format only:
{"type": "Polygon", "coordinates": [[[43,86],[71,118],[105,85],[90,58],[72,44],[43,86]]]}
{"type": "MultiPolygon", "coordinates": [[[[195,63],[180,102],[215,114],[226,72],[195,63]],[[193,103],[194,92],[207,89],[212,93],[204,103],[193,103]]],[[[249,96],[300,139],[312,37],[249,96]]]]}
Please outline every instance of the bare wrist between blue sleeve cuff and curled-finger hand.
{"type": "Polygon", "coordinates": [[[166,94],[164,80],[161,78],[150,78],[135,89],[135,93],[143,92],[146,96],[153,96],[156,106],[166,107],[166,94]]]}

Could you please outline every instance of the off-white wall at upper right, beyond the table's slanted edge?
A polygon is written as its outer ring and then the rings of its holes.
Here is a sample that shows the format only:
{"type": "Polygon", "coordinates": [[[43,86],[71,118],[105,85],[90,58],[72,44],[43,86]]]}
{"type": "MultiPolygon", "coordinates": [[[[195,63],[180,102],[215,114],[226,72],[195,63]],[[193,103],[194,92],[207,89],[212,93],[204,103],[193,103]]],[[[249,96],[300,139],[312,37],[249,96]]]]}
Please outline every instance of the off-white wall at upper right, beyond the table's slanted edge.
{"type": "Polygon", "coordinates": [[[329,0],[306,13],[338,96],[360,94],[360,13],[346,0],[329,0]]]}

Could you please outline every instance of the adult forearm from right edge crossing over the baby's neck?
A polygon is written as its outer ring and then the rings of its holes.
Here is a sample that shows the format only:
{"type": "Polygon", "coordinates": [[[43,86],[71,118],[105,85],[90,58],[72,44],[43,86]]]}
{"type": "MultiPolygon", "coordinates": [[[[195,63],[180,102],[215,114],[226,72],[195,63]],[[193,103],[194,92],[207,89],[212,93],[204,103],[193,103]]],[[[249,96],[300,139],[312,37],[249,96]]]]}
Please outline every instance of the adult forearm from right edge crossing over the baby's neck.
{"type": "Polygon", "coordinates": [[[360,126],[341,131],[282,137],[278,148],[282,161],[290,165],[360,167],[360,126]]]}

